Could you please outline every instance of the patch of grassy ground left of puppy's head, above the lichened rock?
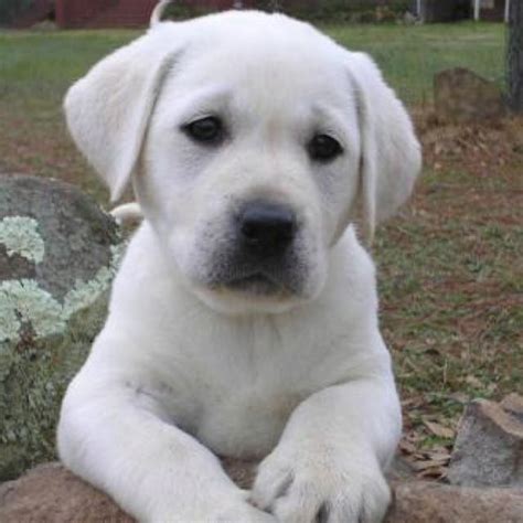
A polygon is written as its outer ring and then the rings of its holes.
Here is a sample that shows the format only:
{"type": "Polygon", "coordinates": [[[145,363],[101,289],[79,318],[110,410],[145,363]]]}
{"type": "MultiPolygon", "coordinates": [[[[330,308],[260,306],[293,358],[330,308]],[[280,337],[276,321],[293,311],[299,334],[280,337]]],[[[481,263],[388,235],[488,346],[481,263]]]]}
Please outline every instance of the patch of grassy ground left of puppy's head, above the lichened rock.
{"type": "Polygon", "coordinates": [[[134,31],[0,32],[0,169],[106,192],[71,143],[63,121],[67,87],[134,31]]]}

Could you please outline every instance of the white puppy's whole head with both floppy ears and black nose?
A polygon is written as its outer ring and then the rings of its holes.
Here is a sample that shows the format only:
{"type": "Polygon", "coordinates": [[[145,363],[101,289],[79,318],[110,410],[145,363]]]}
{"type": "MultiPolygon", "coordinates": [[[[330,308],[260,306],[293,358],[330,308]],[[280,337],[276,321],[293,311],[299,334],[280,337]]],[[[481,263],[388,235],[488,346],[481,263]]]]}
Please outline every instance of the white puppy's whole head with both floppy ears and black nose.
{"type": "Polygon", "coordinates": [[[279,14],[160,23],[77,82],[65,110],[113,199],[131,181],[173,270],[227,312],[318,296],[356,210],[372,238],[420,163],[373,62],[279,14]]]}

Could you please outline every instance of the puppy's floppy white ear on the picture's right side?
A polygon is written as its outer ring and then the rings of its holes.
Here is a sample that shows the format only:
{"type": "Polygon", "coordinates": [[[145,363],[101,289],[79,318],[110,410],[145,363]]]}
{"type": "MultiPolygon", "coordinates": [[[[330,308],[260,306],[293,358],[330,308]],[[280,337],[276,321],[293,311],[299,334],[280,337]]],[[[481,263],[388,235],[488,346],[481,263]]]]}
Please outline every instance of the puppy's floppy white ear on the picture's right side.
{"type": "Polygon", "coordinates": [[[378,222],[409,196],[421,168],[410,118],[380,70],[364,53],[350,53],[361,136],[360,207],[364,236],[372,243],[378,222]]]}

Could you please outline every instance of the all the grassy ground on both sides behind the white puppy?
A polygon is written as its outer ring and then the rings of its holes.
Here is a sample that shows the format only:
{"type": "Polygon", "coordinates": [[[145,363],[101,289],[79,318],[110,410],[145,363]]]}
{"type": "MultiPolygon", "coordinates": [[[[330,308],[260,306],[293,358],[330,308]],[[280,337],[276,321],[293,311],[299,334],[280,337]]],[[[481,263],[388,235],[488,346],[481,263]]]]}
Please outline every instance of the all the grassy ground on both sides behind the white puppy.
{"type": "MultiPolygon", "coordinates": [[[[469,67],[503,85],[501,24],[323,29],[370,52],[416,110],[430,104],[433,75],[446,67],[469,67]]],[[[0,32],[0,171],[71,181],[106,203],[66,136],[61,100],[75,78],[137,34],[0,32]]],[[[489,158],[478,152],[478,132],[469,131],[470,147],[452,161],[436,161],[426,143],[416,195],[374,247],[406,429],[421,447],[450,442],[427,430],[427,417],[455,427],[468,398],[522,392],[523,125],[497,135],[483,129],[489,158]],[[494,138],[504,143],[500,153],[494,138]]]]}

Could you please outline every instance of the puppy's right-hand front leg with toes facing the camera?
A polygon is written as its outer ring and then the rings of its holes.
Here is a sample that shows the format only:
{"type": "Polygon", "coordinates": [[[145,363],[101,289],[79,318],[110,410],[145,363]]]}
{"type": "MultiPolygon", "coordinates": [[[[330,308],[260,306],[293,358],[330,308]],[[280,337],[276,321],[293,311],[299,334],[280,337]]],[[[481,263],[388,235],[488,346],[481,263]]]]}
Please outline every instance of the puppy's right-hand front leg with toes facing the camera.
{"type": "Polygon", "coordinates": [[[285,523],[375,523],[391,494],[384,478],[401,436],[392,376],[318,392],[292,413],[260,463],[252,500],[285,523]]]}

